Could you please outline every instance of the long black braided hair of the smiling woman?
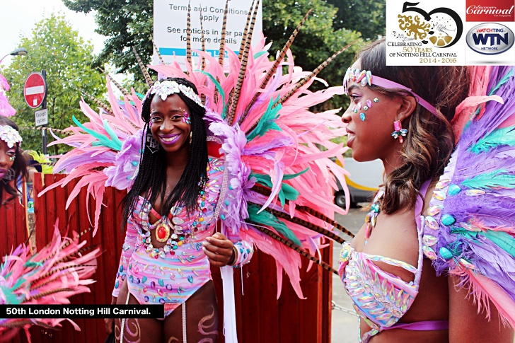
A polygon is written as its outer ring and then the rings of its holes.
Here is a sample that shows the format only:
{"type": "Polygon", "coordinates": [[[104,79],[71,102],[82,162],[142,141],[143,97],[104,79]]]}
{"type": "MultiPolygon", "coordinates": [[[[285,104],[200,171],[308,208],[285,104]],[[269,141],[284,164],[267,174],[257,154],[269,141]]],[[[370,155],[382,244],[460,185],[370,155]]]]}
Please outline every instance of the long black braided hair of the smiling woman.
{"type": "MultiPolygon", "coordinates": [[[[175,81],[192,88],[198,94],[197,88],[193,83],[182,78],[168,78],[167,81],[175,81]]],[[[141,146],[143,153],[139,161],[139,171],[134,185],[123,199],[123,227],[127,223],[127,219],[136,207],[138,196],[145,194],[144,197],[154,204],[157,197],[161,197],[161,216],[165,216],[170,212],[174,204],[185,206],[188,214],[195,210],[197,199],[200,191],[204,190],[207,183],[206,168],[207,158],[207,134],[204,126],[204,115],[206,110],[195,103],[195,101],[187,98],[183,93],[177,93],[179,97],[187,105],[190,112],[192,139],[190,143],[190,156],[187,158],[186,167],[183,175],[180,176],[179,182],[170,192],[166,200],[166,153],[163,149],[159,149],[155,153],[151,153],[146,148],[146,134],[150,134],[150,104],[154,95],[149,95],[144,99],[141,108],[141,119],[145,122],[143,135],[141,137],[141,146]],[[152,190],[152,191],[151,191],[152,190]]]]}

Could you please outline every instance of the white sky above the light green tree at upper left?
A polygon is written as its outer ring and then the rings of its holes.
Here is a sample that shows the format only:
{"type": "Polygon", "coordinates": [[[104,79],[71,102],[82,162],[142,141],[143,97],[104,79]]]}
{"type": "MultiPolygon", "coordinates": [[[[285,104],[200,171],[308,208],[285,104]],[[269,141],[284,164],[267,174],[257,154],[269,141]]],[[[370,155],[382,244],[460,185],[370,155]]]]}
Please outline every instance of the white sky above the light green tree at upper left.
{"type": "MultiPolygon", "coordinates": [[[[76,13],[64,6],[62,0],[0,0],[0,58],[15,50],[21,37],[28,37],[32,33],[34,24],[50,13],[61,11],[74,30],[84,40],[89,40],[98,54],[103,48],[105,37],[94,32],[96,28],[93,13],[76,13]]],[[[30,54],[30,51],[28,52],[30,54]]],[[[11,63],[11,57],[2,61],[2,66],[11,63]]]]}

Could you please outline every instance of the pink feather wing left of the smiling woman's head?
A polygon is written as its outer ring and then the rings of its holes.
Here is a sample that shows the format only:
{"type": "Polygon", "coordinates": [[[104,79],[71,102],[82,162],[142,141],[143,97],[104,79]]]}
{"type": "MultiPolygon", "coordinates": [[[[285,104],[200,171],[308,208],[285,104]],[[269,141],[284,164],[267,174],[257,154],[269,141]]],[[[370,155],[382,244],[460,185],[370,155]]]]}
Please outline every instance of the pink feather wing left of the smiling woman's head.
{"type": "Polygon", "coordinates": [[[54,165],[53,173],[67,175],[38,194],[40,197],[55,187],[64,187],[71,180],[81,178],[66,201],[66,209],[86,187],[88,201],[90,197],[96,199],[93,235],[98,228],[105,187],[112,186],[118,190],[132,187],[141,156],[144,127],[140,116],[142,95],[140,98],[134,89],[129,93],[109,77],[107,81],[110,106],[85,93],[98,105],[98,110],[93,110],[86,101],[81,100],[81,110],[89,121],[81,123],[74,117],[77,126],[64,129],[66,137],[54,135],[56,140],[49,145],[67,144],[74,148],[64,156],[54,156],[59,161],[54,165]],[[117,99],[110,81],[122,91],[123,100],[117,99]]]}

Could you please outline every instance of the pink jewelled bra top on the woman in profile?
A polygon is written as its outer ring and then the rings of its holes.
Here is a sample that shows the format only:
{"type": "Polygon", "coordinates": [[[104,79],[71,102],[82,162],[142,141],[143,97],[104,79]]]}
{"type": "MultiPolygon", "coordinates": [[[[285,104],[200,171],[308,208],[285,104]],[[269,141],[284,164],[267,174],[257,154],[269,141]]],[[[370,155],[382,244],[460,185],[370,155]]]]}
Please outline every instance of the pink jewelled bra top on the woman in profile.
{"type": "MultiPolygon", "coordinates": [[[[340,268],[338,273],[345,284],[347,293],[354,302],[354,309],[370,327],[369,332],[361,336],[359,330],[359,342],[369,342],[369,339],[378,332],[390,329],[405,330],[446,330],[449,322],[435,320],[426,322],[398,323],[412,306],[419,291],[420,277],[422,275],[422,233],[424,223],[422,216],[422,199],[427,192],[429,182],[422,185],[422,198],[417,199],[415,206],[415,220],[419,240],[418,267],[413,267],[406,262],[394,260],[389,257],[370,255],[365,252],[357,252],[345,243],[340,253],[340,268]],[[400,277],[384,272],[374,261],[402,267],[415,274],[415,280],[405,282],[400,277]]],[[[378,196],[381,192],[378,193],[378,196]]],[[[377,199],[374,199],[376,202],[377,199]]]]}

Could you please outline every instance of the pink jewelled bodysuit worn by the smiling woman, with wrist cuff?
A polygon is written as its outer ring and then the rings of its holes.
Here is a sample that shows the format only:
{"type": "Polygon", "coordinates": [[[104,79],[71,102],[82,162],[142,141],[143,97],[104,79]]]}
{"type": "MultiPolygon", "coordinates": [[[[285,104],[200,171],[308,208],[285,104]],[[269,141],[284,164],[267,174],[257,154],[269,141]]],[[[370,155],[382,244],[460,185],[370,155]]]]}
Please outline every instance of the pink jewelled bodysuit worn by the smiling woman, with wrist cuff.
{"type": "MultiPolygon", "coordinates": [[[[163,303],[165,315],[169,315],[212,279],[202,242],[216,230],[214,209],[219,201],[224,160],[209,158],[207,175],[209,181],[203,197],[199,197],[197,209],[187,216],[186,209],[179,207],[174,213],[173,222],[165,216],[154,224],[149,223],[151,212],[158,219],[160,216],[148,200],[139,197],[127,221],[127,234],[112,296],[118,296],[127,277],[129,292],[139,303],[163,303]],[[151,245],[150,235],[161,224],[183,228],[184,236],[177,240],[178,244],[172,242],[173,245],[165,246],[164,250],[151,245]]],[[[228,238],[236,242],[235,246],[241,253],[236,256],[236,267],[248,263],[253,254],[252,246],[238,237],[228,238]]]]}

